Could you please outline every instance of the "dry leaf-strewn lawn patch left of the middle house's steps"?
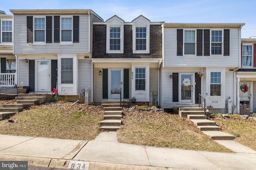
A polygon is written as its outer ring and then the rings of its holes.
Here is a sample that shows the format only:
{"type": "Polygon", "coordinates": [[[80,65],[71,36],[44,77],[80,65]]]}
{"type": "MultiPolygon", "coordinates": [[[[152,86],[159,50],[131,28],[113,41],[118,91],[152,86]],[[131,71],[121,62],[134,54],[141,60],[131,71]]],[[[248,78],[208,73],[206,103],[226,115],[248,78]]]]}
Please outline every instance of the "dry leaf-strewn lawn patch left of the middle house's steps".
{"type": "Polygon", "coordinates": [[[33,105],[0,121],[1,134],[58,139],[92,140],[100,133],[103,109],[85,104],[58,101],[33,105]]]}

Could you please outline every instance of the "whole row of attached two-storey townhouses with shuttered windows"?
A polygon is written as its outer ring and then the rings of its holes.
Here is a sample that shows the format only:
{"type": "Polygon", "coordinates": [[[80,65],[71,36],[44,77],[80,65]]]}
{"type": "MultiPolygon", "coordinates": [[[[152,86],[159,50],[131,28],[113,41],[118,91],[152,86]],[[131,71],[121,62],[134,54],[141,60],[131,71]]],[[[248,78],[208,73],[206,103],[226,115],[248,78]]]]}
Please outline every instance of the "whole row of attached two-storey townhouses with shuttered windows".
{"type": "MultiPolygon", "coordinates": [[[[1,11],[0,11],[1,12],[1,11]]],[[[68,100],[149,102],[160,108],[256,111],[256,38],[244,23],[104,21],[92,10],[0,14],[1,90],[53,88],[68,100]],[[205,99],[205,101],[202,99],[205,99]]]]}

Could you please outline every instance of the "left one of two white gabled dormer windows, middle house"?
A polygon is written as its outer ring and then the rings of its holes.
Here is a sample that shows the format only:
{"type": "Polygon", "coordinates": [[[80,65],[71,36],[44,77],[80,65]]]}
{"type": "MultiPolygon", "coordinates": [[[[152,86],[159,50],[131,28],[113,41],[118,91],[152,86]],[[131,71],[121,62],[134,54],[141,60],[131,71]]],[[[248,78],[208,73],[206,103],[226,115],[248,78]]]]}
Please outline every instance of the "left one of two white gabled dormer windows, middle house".
{"type": "Polygon", "coordinates": [[[124,21],[113,16],[106,23],[106,53],[124,53],[124,21]]]}

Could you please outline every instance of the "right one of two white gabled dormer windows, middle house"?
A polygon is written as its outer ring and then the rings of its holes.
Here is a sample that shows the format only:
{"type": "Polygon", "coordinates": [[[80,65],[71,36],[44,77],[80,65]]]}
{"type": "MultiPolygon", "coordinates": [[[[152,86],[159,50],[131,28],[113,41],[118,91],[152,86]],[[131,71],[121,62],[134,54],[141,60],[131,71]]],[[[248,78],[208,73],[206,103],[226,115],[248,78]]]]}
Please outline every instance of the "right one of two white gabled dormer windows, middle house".
{"type": "Polygon", "coordinates": [[[139,16],[132,21],[132,51],[134,54],[150,53],[150,21],[139,16]]]}

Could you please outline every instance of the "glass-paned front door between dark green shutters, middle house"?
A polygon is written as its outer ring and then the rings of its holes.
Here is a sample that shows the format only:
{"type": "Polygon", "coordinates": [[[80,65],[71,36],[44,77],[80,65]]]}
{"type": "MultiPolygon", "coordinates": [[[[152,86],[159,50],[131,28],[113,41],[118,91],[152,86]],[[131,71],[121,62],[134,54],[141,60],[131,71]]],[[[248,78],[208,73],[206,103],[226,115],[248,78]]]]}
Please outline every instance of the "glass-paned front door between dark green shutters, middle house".
{"type": "MultiPolygon", "coordinates": [[[[109,98],[113,100],[120,100],[121,88],[123,89],[122,83],[122,69],[121,68],[110,68],[109,69],[109,98]]],[[[123,96],[123,93],[122,93],[123,96]]],[[[122,97],[121,97],[122,98],[122,97]]]]}

